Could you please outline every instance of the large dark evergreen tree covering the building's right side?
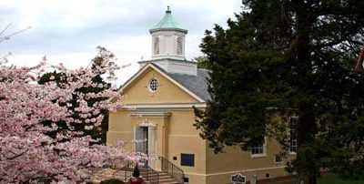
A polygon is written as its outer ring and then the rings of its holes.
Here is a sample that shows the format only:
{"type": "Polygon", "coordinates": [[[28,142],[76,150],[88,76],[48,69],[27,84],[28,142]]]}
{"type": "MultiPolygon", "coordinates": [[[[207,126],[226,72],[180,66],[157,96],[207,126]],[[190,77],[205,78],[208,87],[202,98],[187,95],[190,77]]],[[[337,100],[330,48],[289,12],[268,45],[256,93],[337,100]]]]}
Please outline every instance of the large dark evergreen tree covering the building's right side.
{"type": "Polygon", "coordinates": [[[275,136],[288,147],[298,116],[293,169],[316,183],[319,169],[362,175],[364,77],[354,71],[364,34],[360,0],[243,0],[237,20],[201,44],[211,69],[206,112],[195,126],[215,152],[275,136]],[[280,120],[274,116],[280,115],[280,120]]]}

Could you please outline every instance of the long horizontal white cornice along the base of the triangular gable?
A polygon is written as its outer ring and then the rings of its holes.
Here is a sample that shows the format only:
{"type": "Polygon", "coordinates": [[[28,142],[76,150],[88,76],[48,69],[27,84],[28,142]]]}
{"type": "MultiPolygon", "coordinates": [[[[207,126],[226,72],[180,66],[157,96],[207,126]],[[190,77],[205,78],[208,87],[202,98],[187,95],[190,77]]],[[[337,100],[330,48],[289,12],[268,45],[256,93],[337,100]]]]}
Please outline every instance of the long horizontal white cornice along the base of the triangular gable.
{"type": "Polygon", "coordinates": [[[187,104],[126,104],[125,108],[205,108],[207,107],[206,103],[187,103],[187,104]]]}

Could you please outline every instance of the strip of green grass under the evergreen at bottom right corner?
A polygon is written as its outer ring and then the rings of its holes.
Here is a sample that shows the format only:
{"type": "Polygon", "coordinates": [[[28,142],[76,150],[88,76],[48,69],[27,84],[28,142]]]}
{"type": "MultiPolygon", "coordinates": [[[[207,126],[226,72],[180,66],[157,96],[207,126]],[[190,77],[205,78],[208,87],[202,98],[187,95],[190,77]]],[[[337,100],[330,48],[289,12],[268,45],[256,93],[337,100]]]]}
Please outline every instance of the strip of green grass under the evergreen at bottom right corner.
{"type": "MultiPolygon", "coordinates": [[[[318,180],[318,184],[363,184],[364,179],[342,179],[337,175],[322,176],[318,180]]],[[[296,181],[277,182],[276,184],[298,184],[296,181]]]]}

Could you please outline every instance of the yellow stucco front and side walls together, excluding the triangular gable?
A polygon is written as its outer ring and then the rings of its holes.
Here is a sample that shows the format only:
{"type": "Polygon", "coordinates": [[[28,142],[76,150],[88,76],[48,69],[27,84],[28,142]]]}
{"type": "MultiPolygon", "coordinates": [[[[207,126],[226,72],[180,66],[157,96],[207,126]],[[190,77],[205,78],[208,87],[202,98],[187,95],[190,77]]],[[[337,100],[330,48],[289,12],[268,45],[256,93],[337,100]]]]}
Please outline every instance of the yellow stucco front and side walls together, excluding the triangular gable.
{"type": "MultiPolygon", "coordinates": [[[[183,169],[189,183],[228,183],[231,175],[236,173],[246,175],[247,179],[252,179],[253,175],[256,175],[257,179],[266,179],[266,174],[269,174],[269,178],[288,175],[284,171],[286,158],[282,163],[274,163],[274,155],[279,152],[279,146],[274,140],[268,139],[266,156],[263,157],[252,158],[250,152],[232,147],[227,147],[225,153],[215,154],[211,148],[208,148],[207,142],[198,136],[197,129],[193,127],[195,117],[192,108],[169,109],[168,112],[171,112],[171,116],[167,119],[132,118],[129,116],[138,110],[123,110],[110,114],[107,141],[113,141],[117,138],[126,141],[132,140],[135,126],[146,120],[156,123],[157,128],[162,128],[164,125],[167,138],[157,138],[159,149],[157,155],[167,158],[177,167],[183,169]],[[162,141],[166,142],[162,143],[162,141]],[[161,151],[163,149],[161,144],[167,144],[164,154],[161,151]],[[195,154],[195,167],[181,166],[181,153],[195,154]],[[174,157],[177,160],[173,160],[174,157]]],[[[133,144],[126,146],[129,151],[134,151],[133,144]]]]}

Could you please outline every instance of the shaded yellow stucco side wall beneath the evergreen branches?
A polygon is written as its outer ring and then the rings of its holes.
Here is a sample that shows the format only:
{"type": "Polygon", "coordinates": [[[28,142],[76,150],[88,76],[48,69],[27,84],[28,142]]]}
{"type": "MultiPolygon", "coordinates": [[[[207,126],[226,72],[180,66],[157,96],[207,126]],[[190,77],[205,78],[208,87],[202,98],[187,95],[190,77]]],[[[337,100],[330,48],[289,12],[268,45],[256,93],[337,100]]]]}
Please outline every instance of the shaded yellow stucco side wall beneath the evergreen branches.
{"type": "Polygon", "coordinates": [[[281,163],[275,163],[274,157],[279,153],[280,147],[274,139],[267,139],[266,154],[254,157],[250,151],[242,151],[240,148],[227,147],[224,153],[215,154],[211,148],[207,148],[207,183],[228,183],[231,175],[240,173],[252,179],[271,179],[288,176],[284,170],[288,160],[294,158],[290,155],[283,158],[281,163]],[[213,161],[212,161],[213,160],[213,161]],[[267,175],[268,174],[268,178],[267,175]]]}

